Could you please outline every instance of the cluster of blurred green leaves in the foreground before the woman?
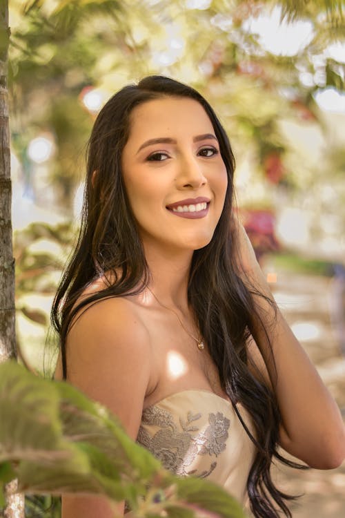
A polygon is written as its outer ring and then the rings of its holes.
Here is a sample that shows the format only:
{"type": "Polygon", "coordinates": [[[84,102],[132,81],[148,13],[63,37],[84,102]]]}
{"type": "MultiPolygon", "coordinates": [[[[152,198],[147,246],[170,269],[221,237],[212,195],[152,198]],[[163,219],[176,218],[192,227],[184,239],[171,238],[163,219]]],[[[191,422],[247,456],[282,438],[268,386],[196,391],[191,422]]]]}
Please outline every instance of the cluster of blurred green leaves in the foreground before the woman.
{"type": "Polygon", "coordinates": [[[137,517],[244,518],[219,486],[164,470],[105,407],[9,361],[0,365],[0,506],[14,475],[27,493],[126,499],[137,517]]]}

